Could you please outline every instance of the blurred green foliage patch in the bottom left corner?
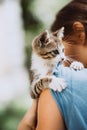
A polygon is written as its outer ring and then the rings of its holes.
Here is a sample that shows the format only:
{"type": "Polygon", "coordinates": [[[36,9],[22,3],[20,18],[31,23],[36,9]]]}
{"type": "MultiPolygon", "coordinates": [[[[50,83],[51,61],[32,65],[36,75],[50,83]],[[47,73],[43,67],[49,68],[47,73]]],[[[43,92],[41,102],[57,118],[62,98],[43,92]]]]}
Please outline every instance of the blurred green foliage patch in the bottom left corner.
{"type": "Polygon", "coordinates": [[[18,124],[25,114],[24,109],[9,106],[0,110],[0,130],[17,130],[18,124]]]}

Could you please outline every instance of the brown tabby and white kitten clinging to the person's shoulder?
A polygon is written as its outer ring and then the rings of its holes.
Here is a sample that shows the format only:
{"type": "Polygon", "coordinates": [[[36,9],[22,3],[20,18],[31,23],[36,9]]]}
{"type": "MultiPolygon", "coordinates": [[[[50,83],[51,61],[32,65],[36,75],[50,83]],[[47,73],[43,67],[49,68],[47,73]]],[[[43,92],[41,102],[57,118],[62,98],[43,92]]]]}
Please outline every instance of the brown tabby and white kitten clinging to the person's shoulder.
{"type": "Polygon", "coordinates": [[[32,98],[38,98],[45,88],[59,92],[66,88],[64,79],[52,75],[58,62],[65,58],[62,44],[63,31],[63,27],[53,34],[45,31],[32,42],[32,65],[30,69],[32,98]]]}

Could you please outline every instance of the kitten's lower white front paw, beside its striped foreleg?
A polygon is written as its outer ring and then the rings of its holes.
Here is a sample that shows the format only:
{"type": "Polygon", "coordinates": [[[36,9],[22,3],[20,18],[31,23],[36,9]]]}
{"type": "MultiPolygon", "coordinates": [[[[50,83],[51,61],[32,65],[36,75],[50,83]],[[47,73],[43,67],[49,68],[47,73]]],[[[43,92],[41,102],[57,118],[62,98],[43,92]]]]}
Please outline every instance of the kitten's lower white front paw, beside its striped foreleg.
{"type": "Polygon", "coordinates": [[[61,92],[67,85],[64,79],[52,76],[52,82],[49,84],[49,87],[54,91],[61,92]]]}

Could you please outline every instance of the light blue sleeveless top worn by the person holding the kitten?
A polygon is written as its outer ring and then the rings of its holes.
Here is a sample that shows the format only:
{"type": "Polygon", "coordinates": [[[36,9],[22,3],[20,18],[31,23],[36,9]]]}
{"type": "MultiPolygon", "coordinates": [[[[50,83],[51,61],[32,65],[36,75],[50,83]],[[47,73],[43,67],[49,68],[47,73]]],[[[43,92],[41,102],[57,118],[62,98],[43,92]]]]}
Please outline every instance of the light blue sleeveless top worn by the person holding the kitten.
{"type": "Polygon", "coordinates": [[[62,92],[51,90],[67,130],[87,130],[87,69],[75,71],[57,65],[54,75],[64,78],[67,83],[62,92]]]}

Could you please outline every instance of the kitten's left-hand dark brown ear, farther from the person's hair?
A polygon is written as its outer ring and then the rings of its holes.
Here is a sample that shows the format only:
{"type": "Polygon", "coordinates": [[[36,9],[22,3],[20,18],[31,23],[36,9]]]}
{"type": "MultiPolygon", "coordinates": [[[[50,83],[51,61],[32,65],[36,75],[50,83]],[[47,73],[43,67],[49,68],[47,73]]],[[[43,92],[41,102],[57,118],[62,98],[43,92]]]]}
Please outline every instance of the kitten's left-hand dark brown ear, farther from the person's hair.
{"type": "Polygon", "coordinates": [[[43,32],[39,38],[40,46],[45,45],[49,41],[49,39],[50,39],[50,34],[49,34],[48,30],[45,30],[45,32],[43,32]]]}

